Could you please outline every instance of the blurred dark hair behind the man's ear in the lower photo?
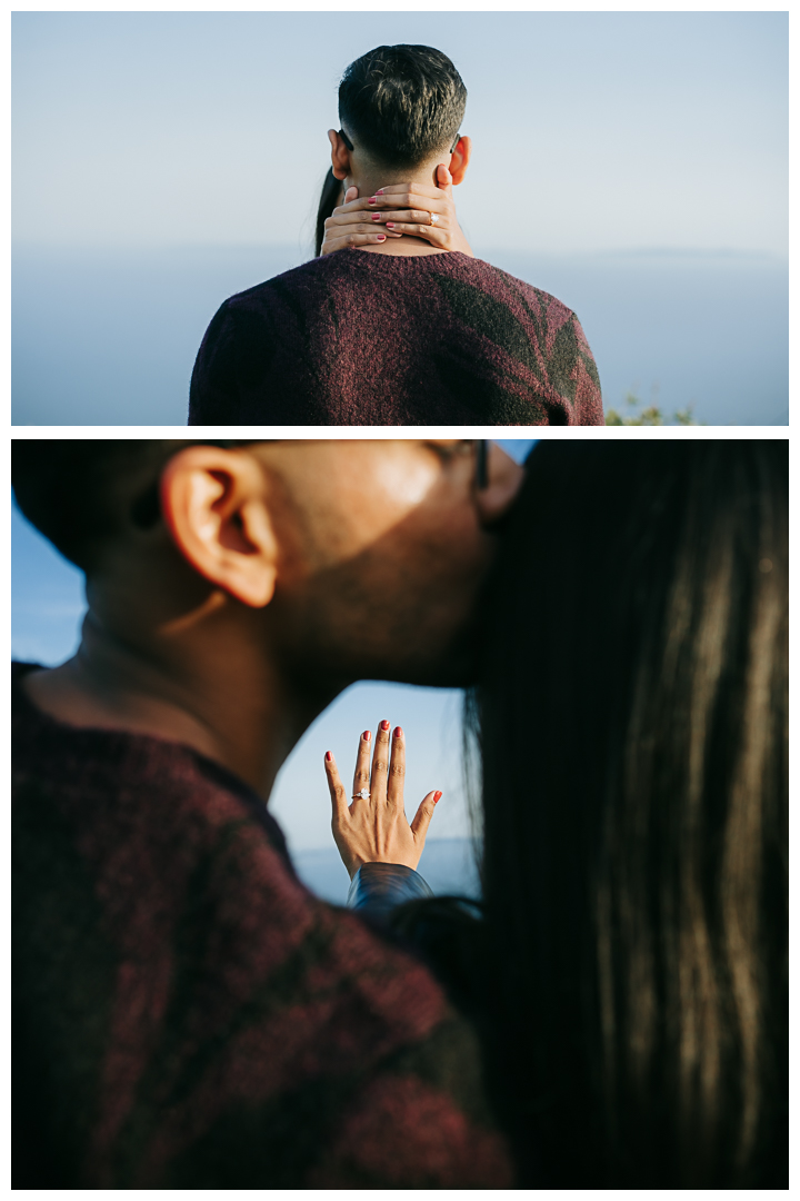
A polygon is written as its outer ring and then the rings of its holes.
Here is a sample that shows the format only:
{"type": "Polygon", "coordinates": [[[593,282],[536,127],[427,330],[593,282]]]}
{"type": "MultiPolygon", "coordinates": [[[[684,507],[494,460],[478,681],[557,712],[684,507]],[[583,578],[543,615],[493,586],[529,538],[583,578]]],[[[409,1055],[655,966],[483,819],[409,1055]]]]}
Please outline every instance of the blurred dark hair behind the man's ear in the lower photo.
{"type": "Polygon", "coordinates": [[[161,516],[158,479],[187,446],[247,446],[252,440],[17,438],[11,483],[17,506],[66,558],[83,570],[101,543],[132,521],[146,528],[161,516]]]}

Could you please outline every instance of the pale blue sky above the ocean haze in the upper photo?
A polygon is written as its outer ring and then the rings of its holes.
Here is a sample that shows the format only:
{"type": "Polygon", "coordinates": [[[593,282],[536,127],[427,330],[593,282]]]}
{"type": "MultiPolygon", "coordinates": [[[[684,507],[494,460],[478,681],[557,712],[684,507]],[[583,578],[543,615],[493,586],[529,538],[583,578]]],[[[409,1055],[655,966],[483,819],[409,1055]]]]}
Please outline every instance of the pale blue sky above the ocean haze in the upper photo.
{"type": "Polygon", "coordinates": [[[14,234],[307,252],[344,66],[444,49],[486,256],[786,253],[788,14],[13,14],[14,234]]]}

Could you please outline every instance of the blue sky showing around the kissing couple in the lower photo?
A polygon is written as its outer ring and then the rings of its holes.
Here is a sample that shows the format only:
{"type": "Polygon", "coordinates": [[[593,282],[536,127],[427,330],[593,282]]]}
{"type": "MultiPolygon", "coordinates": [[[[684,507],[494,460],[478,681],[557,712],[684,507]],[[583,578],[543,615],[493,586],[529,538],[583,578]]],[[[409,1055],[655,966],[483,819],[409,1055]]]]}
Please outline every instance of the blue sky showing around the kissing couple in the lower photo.
{"type": "MultiPolygon", "coordinates": [[[[529,438],[501,442],[522,461],[529,438]]],[[[79,640],[85,610],[83,573],[53,549],[17,508],[12,508],[11,584],[12,656],[55,665],[79,640]]],[[[387,717],[405,730],[409,747],[407,808],[432,788],[445,793],[432,837],[469,833],[461,764],[461,693],[390,683],[348,688],[307,730],[278,776],[270,808],[295,850],[330,847],[330,802],[323,755],[332,749],[345,771],[353,770],[362,729],[387,717]]]]}

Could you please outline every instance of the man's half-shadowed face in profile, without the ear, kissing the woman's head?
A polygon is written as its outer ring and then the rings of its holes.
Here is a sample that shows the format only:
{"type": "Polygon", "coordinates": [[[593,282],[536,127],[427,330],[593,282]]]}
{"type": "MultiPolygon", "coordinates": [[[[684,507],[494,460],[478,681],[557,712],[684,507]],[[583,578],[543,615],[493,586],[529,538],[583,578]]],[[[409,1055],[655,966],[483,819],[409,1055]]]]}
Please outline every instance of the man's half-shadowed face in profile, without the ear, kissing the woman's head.
{"type": "Polygon", "coordinates": [[[464,441],[264,444],[284,484],[294,550],[271,602],[295,669],[457,685],[470,676],[492,524],[522,470],[492,447],[476,489],[464,441]]]}

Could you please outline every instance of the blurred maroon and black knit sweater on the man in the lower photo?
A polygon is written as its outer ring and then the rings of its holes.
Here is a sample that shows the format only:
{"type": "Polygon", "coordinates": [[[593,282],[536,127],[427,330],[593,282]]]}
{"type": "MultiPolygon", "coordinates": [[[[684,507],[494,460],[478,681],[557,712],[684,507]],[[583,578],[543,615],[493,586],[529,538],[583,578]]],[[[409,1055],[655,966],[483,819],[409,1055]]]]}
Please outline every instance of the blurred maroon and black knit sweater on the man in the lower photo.
{"type": "Polygon", "coordinates": [[[13,679],[16,1188],[506,1188],[470,1028],[186,747],[13,679]]]}

